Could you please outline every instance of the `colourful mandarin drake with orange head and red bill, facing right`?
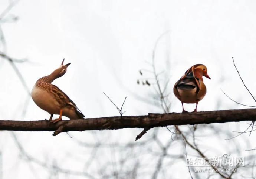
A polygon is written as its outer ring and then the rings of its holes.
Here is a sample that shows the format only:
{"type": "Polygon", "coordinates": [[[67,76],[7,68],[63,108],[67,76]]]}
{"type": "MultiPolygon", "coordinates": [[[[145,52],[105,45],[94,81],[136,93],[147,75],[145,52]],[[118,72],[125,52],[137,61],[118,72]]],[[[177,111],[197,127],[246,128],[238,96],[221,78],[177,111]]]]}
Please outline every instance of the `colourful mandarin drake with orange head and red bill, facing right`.
{"type": "Polygon", "coordinates": [[[191,66],[185,74],[175,83],[173,92],[175,96],[181,101],[182,112],[184,110],[183,103],[196,103],[203,99],[206,94],[206,86],[203,83],[203,76],[211,79],[207,74],[206,66],[202,64],[196,64],[191,66]]]}

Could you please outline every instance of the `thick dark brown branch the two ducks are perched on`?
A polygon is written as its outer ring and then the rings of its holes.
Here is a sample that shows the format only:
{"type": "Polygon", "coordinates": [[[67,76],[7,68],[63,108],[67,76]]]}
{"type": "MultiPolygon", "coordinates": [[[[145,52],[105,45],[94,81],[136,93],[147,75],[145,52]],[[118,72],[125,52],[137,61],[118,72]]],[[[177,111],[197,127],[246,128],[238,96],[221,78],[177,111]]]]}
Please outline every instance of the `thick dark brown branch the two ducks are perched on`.
{"type": "Polygon", "coordinates": [[[146,116],[114,116],[78,120],[63,120],[56,124],[48,120],[14,121],[0,120],[0,130],[7,131],[55,131],[53,135],[68,131],[105,130],[122,128],[152,128],[168,125],[193,125],[255,121],[256,109],[204,111],[197,113],[168,113],[146,116]]]}

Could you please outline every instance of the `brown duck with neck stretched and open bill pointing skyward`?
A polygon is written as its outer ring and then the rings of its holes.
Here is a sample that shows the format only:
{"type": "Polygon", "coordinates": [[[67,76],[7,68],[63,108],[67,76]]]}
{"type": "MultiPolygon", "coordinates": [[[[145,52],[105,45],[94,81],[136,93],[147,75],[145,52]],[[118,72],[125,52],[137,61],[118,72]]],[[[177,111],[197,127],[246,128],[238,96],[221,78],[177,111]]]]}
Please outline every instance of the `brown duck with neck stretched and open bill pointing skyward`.
{"type": "Polygon", "coordinates": [[[76,104],[57,86],[51,83],[63,76],[67,67],[71,64],[63,65],[64,59],[59,68],[54,70],[50,75],[37,80],[32,89],[32,99],[41,109],[51,114],[49,121],[56,123],[62,120],[62,116],[70,119],[82,119],[85,116],[76,107],[76,104]],[[53,114],[59,114],[59,118],[52,120],[53,114]]]}

